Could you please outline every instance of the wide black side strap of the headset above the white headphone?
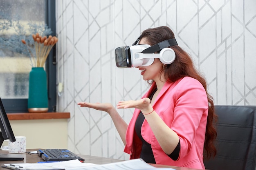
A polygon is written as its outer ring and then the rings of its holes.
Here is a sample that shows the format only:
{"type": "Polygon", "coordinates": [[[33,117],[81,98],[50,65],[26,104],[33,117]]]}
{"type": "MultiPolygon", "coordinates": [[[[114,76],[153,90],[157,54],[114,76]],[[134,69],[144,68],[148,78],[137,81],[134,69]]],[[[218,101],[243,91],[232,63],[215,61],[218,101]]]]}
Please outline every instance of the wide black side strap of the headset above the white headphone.
{"type": "Polygon", "coordinates": [[[177,44],[176,39],[172,38],[169,40],[164,40],[162,42],[159,42],[158,44],[155,44],[153,46],[150,46],[147,49],[143,50],[141,53],[155,53],[155,52],[160,51],[168,46],[174,46],[174,45],[178,45],[178,44],[177,44]]]}

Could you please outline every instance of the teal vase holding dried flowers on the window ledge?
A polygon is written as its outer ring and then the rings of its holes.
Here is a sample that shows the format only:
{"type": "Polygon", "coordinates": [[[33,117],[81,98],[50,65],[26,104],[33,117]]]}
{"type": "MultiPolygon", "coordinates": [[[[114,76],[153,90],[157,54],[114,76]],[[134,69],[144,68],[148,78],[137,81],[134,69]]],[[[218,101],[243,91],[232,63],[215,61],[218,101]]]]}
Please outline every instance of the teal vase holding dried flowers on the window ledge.
{"type": "Polygon", "coordinates": [[[43,67],[32,67],[29,73],[28,111],[30,113],[48,111],[47,78],[43,67]]]}

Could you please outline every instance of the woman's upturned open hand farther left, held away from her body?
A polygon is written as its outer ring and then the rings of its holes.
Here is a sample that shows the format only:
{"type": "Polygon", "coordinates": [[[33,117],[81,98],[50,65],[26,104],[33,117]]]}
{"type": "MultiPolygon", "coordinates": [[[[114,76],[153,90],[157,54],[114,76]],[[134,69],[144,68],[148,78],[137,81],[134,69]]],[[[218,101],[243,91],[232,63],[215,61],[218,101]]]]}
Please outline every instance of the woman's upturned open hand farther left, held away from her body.
{"type": "Polygon", "coordinates": [[[114,108],[114,106],[110,103],[79,102],[78,105],[80,105],[80,107],[94,108],[96,110],[101,110],[107,113],[110,113],[110,110],[114,108]]]}

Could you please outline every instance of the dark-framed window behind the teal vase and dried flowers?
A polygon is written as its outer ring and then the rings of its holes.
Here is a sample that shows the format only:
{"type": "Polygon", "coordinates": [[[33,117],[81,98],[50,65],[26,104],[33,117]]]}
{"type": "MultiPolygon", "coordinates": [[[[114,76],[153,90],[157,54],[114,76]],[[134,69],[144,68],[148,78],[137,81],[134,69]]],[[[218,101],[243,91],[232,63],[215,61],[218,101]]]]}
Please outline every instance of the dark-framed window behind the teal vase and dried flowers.
{"type": "MultiPolygon", "coordinates": [[[[27,111],[29,51],[17,45],[33,28],[47,25],[56,35],[55,0],[2,0],[0,6],[0,97],[7,113],[27,111]],[[7,28],[13,26],[13,28],[7,28]],[[25,30],[25,34],[24,34],[25,30]]],[[[24,48],[23,48],[24,47],[24,48]]],[[[53,47],[45,63],[49,112],[56,111],[56,49],[53,47]]]]}

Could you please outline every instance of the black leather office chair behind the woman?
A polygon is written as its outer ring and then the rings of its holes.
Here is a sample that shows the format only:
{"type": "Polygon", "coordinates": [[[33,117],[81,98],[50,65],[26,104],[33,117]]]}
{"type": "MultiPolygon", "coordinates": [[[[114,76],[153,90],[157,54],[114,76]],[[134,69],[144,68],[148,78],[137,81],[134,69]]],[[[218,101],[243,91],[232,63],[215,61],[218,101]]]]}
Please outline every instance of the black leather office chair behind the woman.
{"type": "Polygon", "coordinates": [[[209,170],[256,170],[256,106],[215,106],[217,155],[209,170]]]}

